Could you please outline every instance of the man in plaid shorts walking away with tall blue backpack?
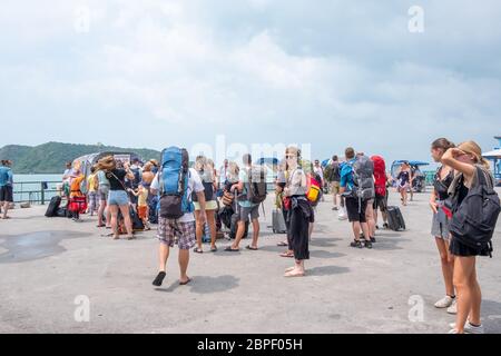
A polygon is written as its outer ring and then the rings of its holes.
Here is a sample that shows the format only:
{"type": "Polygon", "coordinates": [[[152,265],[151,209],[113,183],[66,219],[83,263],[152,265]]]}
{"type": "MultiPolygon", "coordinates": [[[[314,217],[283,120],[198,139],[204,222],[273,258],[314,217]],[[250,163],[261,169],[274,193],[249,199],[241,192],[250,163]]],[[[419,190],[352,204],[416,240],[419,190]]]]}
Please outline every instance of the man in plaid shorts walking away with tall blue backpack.
{"type": "Polygon", "coordinates": [[[195,216],[191,192],[200,205],[200,220],[206,220],[204,185],[197,171],[188,168],[189,157],[186,149],[169,147],[161,152],[161,165],[151,181],[151,194],[159,194],[160,211],[158,217],[159,273],[153,285],[161,286],[169,249],[179,247],[179,285],[191,281],[187,275],[189,249],[196,244],[195,216]]]}

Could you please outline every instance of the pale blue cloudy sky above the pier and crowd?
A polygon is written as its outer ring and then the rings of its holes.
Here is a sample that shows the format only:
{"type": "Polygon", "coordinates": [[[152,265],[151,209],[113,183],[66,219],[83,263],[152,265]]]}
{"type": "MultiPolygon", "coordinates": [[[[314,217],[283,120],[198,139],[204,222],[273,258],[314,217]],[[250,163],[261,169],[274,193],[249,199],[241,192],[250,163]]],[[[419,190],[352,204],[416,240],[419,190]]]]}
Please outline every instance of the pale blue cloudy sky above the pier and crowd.
{"type": "Polygon", "coordinates": [[[501,135],[499,0],[2,0],[0,10],[0,146],[196,150],[223,137],[224,151],[296,144],[323,159],[353,146],[430,160],[438,137],[490,150],[501,135]]]}

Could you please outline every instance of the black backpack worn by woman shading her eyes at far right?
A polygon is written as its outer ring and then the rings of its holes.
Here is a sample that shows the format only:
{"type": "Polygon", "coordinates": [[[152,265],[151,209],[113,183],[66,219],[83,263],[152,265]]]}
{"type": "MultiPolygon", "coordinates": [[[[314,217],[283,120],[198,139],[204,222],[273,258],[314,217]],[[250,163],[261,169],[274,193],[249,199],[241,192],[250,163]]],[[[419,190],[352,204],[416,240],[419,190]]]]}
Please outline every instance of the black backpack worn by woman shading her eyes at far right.
{"type": "Polygon", "coordinates": [[[492,235],[500,212],[500,200],[493,189],[492,177],[480,167],[477,167],[477,177],[478,185],[470,188],[466,197],[453,211],[450,231],[465,246],[492,251],[492,235]]]}

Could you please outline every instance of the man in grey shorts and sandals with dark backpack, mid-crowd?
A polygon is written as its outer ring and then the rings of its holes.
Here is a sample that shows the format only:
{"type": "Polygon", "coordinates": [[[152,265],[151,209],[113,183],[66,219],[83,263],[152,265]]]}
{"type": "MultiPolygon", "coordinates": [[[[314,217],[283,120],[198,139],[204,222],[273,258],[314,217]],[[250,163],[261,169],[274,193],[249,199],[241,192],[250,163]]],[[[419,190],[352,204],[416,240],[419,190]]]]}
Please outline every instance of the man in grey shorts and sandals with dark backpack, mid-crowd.
{"type": "Polygon", "coordinates": [[[232,191],[242,192],[238,198],[239,220],[235,241],[225,251],[238,251],[239,243],[245,235],[245,224],[252,220],[253,241],[246,248],[257,250],[259,237],[259,205],[266,199],[266,170],[264,167],[252,167],[250,155],[243,157],[244,168],[238,174],[238,182],[232,186],[232,191]]]}

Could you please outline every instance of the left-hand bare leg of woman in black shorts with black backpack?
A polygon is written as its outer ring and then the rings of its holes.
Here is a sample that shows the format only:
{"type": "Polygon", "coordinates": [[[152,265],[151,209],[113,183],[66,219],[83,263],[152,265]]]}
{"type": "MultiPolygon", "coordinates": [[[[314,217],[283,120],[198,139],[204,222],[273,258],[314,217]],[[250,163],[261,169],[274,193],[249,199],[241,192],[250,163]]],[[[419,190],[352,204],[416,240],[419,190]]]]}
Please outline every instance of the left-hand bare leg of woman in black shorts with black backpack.
{"type": "Polygon", "coordinates": [[[475,268],[475,257],[456,256],[454,260],[454,286],[458,290],[458,314],[455,328],[458,333],[464,333],[464,324],[472,310],[473,271],[475,268]]]}

